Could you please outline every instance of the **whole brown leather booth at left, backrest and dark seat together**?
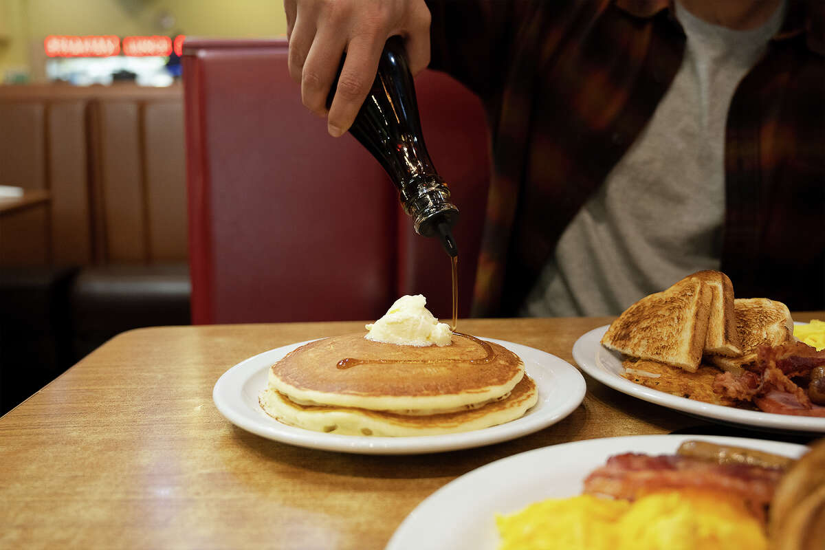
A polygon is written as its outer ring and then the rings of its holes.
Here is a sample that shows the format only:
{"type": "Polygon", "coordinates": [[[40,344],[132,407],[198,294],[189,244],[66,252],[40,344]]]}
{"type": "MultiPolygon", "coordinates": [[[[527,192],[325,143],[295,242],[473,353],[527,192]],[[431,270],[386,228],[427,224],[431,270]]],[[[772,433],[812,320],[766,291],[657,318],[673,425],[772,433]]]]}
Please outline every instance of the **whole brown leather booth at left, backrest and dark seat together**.
{"type": "Polygon", "coordinates": [[[0,184],[47,199],[0,216],[5,410],[120,331],[189,323],[190,285],[180,86],[0,87],[0,128],[0,184]]]}

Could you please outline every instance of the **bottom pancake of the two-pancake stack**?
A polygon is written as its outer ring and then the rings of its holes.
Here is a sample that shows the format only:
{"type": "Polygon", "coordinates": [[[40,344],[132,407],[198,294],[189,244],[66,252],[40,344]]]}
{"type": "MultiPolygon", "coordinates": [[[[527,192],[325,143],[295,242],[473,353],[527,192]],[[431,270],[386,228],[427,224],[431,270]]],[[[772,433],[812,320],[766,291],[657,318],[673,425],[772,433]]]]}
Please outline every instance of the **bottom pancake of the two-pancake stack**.
{"type": "Polygon", "coordinates": [[[355,407],[299,405],[273,388],[259,397],[266,413],[284,424],[342,435],[441,435],[481,430],[520,418],[535,405],[538,392],[524,376],[506,397],[482,407],[432,415],[403,415],[355,407]]]}

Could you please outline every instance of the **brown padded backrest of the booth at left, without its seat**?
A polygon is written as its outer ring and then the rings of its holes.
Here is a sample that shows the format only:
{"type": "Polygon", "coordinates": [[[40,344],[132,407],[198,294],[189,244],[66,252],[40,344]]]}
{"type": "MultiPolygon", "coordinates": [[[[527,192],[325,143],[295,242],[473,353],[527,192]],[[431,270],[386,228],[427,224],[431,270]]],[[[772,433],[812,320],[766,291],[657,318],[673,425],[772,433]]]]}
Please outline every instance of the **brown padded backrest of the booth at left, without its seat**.
{"type": "Polygon", "coordinates": [[[0,87],[0,184],[50,193],[50,262],[186,261],[181,87],[0,87]]]}

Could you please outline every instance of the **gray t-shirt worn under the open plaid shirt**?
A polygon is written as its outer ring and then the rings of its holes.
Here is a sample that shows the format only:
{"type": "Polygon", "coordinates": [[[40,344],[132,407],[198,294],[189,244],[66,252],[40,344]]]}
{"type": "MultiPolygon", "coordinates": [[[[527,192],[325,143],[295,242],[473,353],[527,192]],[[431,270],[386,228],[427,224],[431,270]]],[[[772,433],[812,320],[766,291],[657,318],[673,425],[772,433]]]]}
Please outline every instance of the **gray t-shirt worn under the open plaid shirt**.
{"type": "Polygon", "coordinates": [[[653,118],[559,239],[521,314],[616,315],[696,270],[719,269],[724,132],[733,92],[779,31],[733,31],[676,2],[684,59],[653,118]]]}

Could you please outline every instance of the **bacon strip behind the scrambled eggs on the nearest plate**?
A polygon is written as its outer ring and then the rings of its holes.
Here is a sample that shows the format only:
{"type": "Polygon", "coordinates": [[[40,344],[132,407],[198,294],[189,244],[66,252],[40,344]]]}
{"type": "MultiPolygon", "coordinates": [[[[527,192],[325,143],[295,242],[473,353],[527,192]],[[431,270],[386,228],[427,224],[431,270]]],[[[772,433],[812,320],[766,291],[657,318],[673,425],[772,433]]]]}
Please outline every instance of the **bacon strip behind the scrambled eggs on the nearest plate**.
{"type": "Polygon", "coordinates": [[[759,519],[765,518],[780,469],[716,464],[677,455],[618,454],[608,458],[584,482],[584,492],[633,501],[651,491],[708,489],[742,498],[759,519]]]}

